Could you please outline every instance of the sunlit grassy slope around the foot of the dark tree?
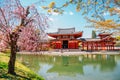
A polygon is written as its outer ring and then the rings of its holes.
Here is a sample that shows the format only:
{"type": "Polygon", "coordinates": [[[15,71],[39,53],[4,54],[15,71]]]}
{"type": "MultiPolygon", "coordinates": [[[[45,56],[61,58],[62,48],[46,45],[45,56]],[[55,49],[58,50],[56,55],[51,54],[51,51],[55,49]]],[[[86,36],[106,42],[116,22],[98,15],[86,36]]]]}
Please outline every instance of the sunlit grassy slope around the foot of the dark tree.
{"type": "Polygon", "coordinates": [[[15,65],[16,75],[8,74],[8,60],[8,54],[0,53],[0,80],[44,80],[18,61],[15,65]]]}

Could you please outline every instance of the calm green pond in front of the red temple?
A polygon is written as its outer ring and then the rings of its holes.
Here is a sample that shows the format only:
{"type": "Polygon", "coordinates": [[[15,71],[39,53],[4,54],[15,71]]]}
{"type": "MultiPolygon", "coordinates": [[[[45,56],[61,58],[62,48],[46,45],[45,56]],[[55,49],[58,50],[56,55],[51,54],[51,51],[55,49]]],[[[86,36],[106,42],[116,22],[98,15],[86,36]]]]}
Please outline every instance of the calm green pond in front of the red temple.
{"type": "Polygon", "coordinates": [[[45,80],[120,80],[120,55],[17,55],[45,80]]]}

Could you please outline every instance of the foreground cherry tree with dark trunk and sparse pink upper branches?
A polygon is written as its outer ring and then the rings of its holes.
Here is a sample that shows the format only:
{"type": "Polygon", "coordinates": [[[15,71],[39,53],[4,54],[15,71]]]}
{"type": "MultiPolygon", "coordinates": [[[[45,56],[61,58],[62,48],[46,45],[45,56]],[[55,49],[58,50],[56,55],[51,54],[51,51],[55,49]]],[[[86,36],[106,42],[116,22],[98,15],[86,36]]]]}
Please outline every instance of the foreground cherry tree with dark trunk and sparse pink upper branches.
{"type": "MultiPolygon", "coordinates": [[[[34,27],[44,32],[48,27],[47,17],[38,13],[35,5],[23,7],[19,0],[0,1],[0,32],[6,34],[5,40],[11,49],[8,73],[15,73],[17,42],[23,28],[34,27]]],[[[30,39],[28,39],[30,40],[30,39]]]]}

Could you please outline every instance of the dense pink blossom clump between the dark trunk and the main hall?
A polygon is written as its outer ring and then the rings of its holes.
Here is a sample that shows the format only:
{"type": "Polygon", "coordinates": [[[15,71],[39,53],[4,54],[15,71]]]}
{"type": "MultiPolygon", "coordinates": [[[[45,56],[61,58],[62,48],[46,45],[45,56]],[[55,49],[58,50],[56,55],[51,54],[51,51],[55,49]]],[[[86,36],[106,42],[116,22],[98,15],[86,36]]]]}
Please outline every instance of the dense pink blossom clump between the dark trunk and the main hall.
{"type": "Polygon", "coordinates": [[[18,47],[22,51],[38,51],[40,32],[34,27],[24,27],[18,39],[18,47]]]}

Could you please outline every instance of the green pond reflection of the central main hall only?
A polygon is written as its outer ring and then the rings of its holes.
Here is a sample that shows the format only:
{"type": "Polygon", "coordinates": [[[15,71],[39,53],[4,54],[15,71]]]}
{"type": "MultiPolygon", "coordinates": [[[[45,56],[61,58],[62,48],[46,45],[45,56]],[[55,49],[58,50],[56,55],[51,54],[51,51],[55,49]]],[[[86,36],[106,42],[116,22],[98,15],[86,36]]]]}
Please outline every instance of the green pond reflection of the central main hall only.
{"type": "Polygon", "coordinates": [[[79,64],[79,60],[76,57],[61,56],[54,58],[56,58],[53,64],[54,66],[48,72],[57,72],[60,75],[84,74],[83,66],[79,64]]]}

